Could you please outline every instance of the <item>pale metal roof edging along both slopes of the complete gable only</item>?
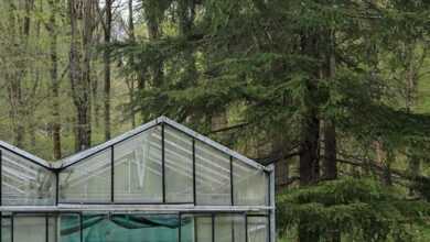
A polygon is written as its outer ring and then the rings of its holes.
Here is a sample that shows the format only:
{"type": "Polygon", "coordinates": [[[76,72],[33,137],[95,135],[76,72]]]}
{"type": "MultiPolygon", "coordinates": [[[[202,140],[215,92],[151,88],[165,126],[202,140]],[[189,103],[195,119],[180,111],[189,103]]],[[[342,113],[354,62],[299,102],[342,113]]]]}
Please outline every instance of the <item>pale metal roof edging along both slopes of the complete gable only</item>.
{"type": "Polygon", "coordinates": [[[228,148],[228,147],[226,147],[226,146],[224,146],[224,145],[222,145],[222,144],[219,144],[219,143],[217,143],[217,142],[215,142],[215,141],[213,141],[213,140],[211,140],[211,139],[208,139],[208,138],[206,138],[206,136],[204,136],[204,135],[202,135],[202,134],[200,134],[200,133],[197,133],[197,132],[195,132],[195,131],[193,131],[193,130],[191,130],[191,129],[189,129],[189,128],[186,128],[186,127],[184,127],[184,125],[182,125],[182,124],[180,124],[180,123],[178,123],[169,118],[166,118],[166,117],[160,117],[160,118],[152,120],[152,121],[135,129],[135,130],[131,130],[127,133],[123,133],[122,135],[119,135],[110,141],[107,141],[103,144],[99,144],[99,145],[94,146],[92,148],[88,148],[86,151],[82,151],[75,155],[69,156],[69,157],[63,158],[58,164],[55,164],[55,165],[57,168],[64,168],[64,167],[71,166],[71,165],[73,165],[73,164],[75,164],[75,163],[77,163],[86,157],[89,157],[98,152],[105,151],[105,150],[111,147],[112,145],[116,145],[125,140],[128,140],[129,138],[138,135],[138,134],[140,134],[140,133],[142,133],[142,132],[144,132],[153,127],[162,124],[162,123],[171,125],[171,127],[175,128],[176,130],[194,138],[195,140],[198,140],[198,141],[201,141],[201,142],[203,142],[203,143],[205,143],[205,144],[207,144],[207,145],[209,145],[209,146],[212,146],[212,147],[214,147],[214,148],[216,148],[216,150],[218,150],[218,151],[221,151],[221,152],[223,152],[223,153],[225,153],[234,158],[237,158],[237,160],[255,167],[255,168],[270,170],[269,168],[265,167],[264,165],[261,165],[261,164],[259,164],[250,158],[247,158],[246,156],[240,155],[239,153],[232,151],[230,148],[228,148]]]}

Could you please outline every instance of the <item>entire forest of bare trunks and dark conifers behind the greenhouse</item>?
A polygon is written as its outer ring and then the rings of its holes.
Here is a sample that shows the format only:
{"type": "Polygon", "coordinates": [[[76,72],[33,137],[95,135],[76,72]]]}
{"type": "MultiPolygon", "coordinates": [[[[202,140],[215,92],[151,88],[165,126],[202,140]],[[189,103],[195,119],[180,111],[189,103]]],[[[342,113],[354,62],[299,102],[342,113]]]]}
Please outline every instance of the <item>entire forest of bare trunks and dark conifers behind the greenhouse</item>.
{"type": "Polygon", "coordinates": [[[429,47],[426,0],[0,0],[0,140],[164,114],[276,164],[281,241],[428,241],[429,47]]]}

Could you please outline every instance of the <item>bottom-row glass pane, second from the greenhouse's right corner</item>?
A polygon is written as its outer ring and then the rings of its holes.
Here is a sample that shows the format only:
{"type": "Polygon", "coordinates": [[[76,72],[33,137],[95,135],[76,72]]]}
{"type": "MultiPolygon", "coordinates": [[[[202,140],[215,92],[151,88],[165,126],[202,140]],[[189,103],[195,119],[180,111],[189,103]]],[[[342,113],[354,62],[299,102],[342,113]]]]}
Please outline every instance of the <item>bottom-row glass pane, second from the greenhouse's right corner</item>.
{"type": "Polygon", "coordinates": [[[245,216],[216,216],[215,242],[245,242],[245,216]]]}

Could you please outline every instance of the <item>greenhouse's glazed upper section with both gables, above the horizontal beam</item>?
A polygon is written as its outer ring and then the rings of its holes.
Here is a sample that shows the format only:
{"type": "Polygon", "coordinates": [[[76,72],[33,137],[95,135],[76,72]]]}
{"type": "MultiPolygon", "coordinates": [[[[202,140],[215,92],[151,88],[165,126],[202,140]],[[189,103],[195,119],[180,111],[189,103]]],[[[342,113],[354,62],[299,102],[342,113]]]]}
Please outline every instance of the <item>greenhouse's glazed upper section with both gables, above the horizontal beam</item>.
{"type": "Polygon", "coordinates": [[[165,117],[56,163],[0,142],[1,211],[270,211],[273,172],[165,117]]]}

